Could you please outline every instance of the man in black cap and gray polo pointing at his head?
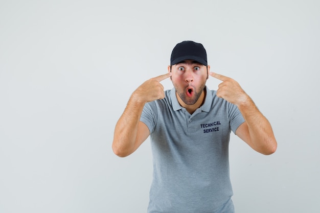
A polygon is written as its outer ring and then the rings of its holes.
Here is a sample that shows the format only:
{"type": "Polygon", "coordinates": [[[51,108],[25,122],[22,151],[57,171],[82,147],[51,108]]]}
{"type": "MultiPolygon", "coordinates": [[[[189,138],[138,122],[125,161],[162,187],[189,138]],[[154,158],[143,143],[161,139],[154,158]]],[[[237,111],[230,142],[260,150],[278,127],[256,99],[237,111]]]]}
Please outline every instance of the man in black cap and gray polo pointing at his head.
{"type": "Polygon", "coordinates": [[[234,212],[228,161],[233,131],[250,147],[272,154],[277,141],[267,119],[233,79],[210,72],[207,52],[193,41],[178,43],[168,73],[131,95],[112,149],[125,157],[150,135],[153,181],[148,212],[234,212]],[[209,76],[222,81],[209,90],[209,76]],[[171,78],[174,88],[160,83],[171,78]]]}

